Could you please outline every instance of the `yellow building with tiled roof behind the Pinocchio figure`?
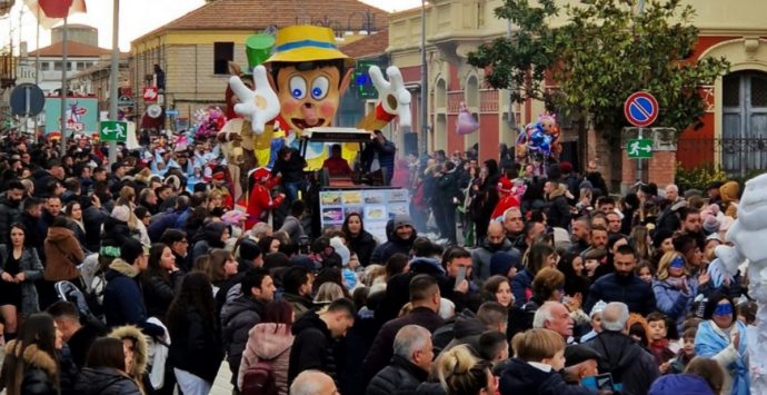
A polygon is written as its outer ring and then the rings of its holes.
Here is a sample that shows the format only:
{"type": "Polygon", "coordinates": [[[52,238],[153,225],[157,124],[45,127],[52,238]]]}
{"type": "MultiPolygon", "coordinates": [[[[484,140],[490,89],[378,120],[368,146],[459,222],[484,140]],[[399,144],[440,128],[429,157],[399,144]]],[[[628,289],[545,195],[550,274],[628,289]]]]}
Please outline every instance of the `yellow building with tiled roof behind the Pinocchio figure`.
{"type": "Polygon", "coordinates": [[[143,87],[165,71],[160,105],[189,118],[197,109],[225,107],[227,65],[247,69],[245,40],[255,33],[291,24],[332,28],[339,45],[386,28],[388,12],[356,0],[217,0],[131,42],[138,111],[143,113],[143,87]]]}

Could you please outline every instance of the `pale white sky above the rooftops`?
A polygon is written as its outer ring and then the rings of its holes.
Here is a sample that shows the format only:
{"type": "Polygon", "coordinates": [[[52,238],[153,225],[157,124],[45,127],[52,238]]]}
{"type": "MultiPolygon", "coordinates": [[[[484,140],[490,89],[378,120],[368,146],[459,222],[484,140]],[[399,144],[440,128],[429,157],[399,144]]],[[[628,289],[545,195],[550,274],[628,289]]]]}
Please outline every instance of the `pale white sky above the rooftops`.
{"type": "MultiPolygon", "coordinates": [[[[332,1],[332,0],[319,0],[332,1]]],[[[401,11],[419,7],[421,0],[362,0],[368,4],[388,11],[401,11]]],[[[29,50],[37,48],[37,22],[34,16],[17,0],[10,18],[0,19],[0,47],[8,46],[10,36],[13,46],[19,38],[28,42],[29,50]],[[23,12],[22,12],[23,8],[23,12]],[[19,18],[21,14],[21,19],[19,18]],[[9,26],[10,22],[10,26],[9,26]],[[19,24],[21,30],[19,31],[19,24]],[[10,30],[9,30],[10,29],[10,30]]],[[[83,23],[99,29],[99,47],[112,47],[112,0],[86,0],[88,13],[71,17],[70,23],[83,23]]],[[[205,0],[121,0],[120,1],[120,50],[130,50],[130,41],[150,32],[205,4],[205,0]]],[[[40,29],[40,47],[50,45],[50,31],[40,29]]]]}

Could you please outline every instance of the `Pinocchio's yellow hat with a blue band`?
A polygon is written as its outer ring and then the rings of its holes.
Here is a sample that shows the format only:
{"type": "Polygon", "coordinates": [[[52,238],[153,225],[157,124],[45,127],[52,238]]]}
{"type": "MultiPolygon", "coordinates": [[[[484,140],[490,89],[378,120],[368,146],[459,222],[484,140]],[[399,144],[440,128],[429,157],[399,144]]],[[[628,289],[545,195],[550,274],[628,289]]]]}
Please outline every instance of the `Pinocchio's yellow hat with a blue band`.
{"type": "Polygon", "coordinates": [[[266,62],[303,62],[332,59],[343,59],[347,67],[355,63],[353,59],[338,50],[332,29],[305,24],[278,30],[272,55],[266,62]]]}

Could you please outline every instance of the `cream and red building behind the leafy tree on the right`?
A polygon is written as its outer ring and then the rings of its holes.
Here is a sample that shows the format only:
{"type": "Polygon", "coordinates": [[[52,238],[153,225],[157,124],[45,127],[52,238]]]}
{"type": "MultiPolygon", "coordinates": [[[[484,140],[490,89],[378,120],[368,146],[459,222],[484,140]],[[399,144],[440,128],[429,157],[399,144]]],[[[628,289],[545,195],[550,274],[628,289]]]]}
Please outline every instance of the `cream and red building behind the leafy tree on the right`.
{"type": "MultiPolygon", "coordinates": [[[[700,29],[695,58],[725,56],[731,73],[719,78],[714,87],[701,87],[709,98],[704,127],[683,134],[679,159],[686,166],[720,164],[730,172],[767,168],[767,2],[685,0],[695,7],[694,23],[700,29]]],[[[565,3],[575,1],[560,0],[565,3]]],[[[500,0],[430,0],[426,7],[426,47],[428,63],[428,141],[429,150],[464,150],[479,142],[481,158],[497,158],[498,144],[510,144],[516,135],[509,127],[512,108],[516,127],[535,120],[544,111],[540,102],[509,106],[507,91],[486,89],[484,71],[467,65],[468,53],[508,31],[506,20],[495,17],[500,0]],[[480,121],[481,131],[460,137],[452,131],[458,106],[465,101],[480,121]]],[[[561,23],[552,21],[552,24],[561,23]]],[[[402,69],[406,83],[412,87],[414,129],[420,131],[419,96],[421,68],[421,10],[398,12],[389,20],[388,51],[394,65],[402,69]]],[[[567,132],[564,140],[575,152],[582,169],[586,159],[602,156],[598,147],[567,132]]],[[[422,135],[422,134],[421,134],[422,135]]],[[[588,139],[591,142],[591,139],[588,139]]],[[[606,160],[602,160],[606,161],[606,160]]],[[[602,162],[602,172],[612,179],[620,176],[620,162],[602,162]]]]}

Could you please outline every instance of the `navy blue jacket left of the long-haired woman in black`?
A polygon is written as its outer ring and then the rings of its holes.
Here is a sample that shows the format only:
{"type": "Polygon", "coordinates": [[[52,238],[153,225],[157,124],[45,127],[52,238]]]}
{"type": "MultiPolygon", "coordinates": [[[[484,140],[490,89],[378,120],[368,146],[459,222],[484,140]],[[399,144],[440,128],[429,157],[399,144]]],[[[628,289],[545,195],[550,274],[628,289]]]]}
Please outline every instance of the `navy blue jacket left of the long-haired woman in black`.
{"type": "Polygon", "coordinates": [[[143,306],[141,287],[136,277],[139,273],[122,259],[114,259],[109,265],[107,287],[103,292],[103,307],[107,325],[118,327],[136,325],[149,336],[161,337],[165,329],[147,323],[147,308],[143,306]]]}

